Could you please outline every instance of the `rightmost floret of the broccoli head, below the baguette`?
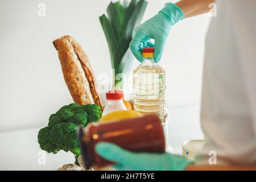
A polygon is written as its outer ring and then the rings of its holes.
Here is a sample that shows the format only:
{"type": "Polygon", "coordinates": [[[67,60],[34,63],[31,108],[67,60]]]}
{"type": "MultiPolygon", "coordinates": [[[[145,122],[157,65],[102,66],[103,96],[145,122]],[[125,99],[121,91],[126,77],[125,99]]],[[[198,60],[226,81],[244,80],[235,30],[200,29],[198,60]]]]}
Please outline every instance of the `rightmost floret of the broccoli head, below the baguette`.
{"type": "Polygon", "coordinates": [[[102,114],[100,106],[97,104],[88,104],[83,105],[82,107],[87,113],[87,122],[96,122],[100,120],[102,114]]]}

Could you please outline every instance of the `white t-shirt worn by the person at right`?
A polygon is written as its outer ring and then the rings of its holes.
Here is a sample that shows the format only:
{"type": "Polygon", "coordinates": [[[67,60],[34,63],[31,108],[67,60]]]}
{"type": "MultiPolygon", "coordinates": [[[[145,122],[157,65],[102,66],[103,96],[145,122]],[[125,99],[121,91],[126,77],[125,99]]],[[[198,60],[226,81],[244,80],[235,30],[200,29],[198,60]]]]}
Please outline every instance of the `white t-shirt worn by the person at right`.
{"type": "Polygon", "coordinates": [[[256,163],[256,1],[216,3],[205,46],[203,153],[215,151],[217,163],[256,163]]]}

